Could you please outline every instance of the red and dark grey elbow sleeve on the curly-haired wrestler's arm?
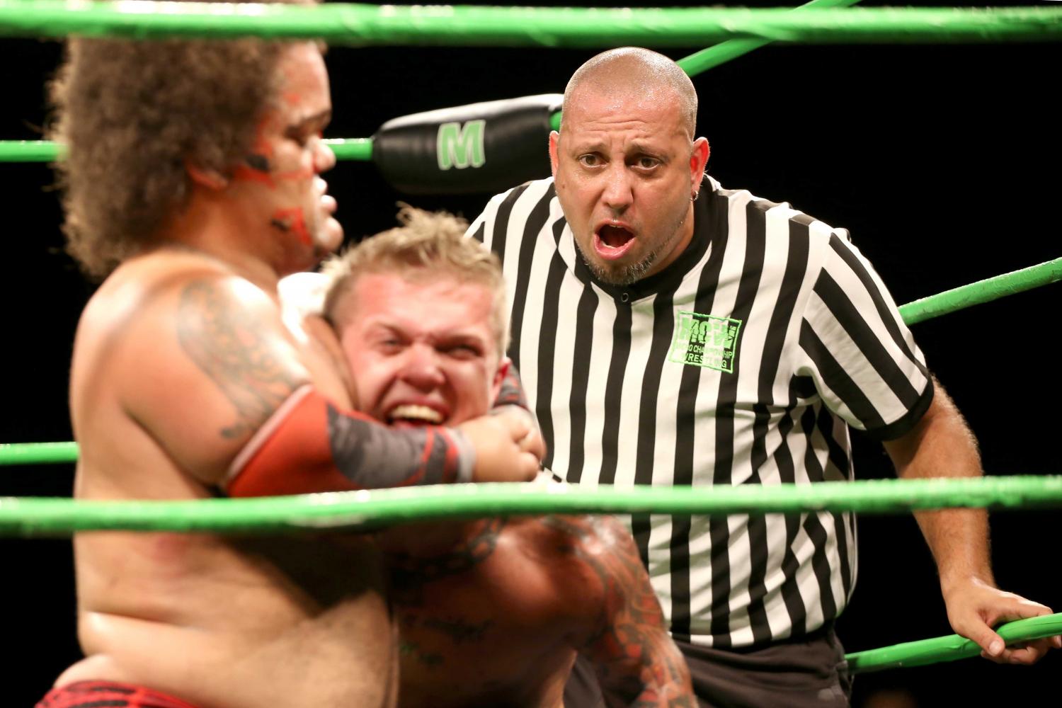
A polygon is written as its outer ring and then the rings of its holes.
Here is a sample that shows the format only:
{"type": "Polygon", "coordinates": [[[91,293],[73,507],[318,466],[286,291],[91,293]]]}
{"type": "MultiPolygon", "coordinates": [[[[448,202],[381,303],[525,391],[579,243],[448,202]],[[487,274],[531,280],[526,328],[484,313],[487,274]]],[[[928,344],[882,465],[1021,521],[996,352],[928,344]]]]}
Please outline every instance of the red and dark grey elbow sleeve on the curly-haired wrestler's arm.
{"type": "Polygon", "coordinates": [[[475,450],[450,428],[388,428],[296,390],[229,467],[230,497],[469,482],[475,450]]]}

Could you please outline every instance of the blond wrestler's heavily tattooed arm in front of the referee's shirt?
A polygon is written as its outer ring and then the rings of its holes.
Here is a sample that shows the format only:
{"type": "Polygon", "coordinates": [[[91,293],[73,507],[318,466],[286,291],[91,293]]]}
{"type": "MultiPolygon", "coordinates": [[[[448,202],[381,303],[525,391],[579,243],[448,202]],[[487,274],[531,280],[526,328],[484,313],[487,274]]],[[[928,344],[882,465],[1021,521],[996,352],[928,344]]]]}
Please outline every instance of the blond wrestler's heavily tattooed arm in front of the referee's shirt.
{"type": "Polygon", "coordinates": [[[580,653],[594,663],[605,704],[696,706],[689,669],[668,635],[630,532],[612,517],[565,521],[590,526],[580,534],[580,555],[599,580],[602,621],[580,653]]]}

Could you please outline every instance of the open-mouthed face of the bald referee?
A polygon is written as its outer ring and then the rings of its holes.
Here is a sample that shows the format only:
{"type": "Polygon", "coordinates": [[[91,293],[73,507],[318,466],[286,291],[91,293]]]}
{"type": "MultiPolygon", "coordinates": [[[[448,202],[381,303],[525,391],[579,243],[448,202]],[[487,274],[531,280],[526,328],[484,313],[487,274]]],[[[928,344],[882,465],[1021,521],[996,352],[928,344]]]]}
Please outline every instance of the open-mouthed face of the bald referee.
{"type": "Polygon", "coordinates": [[[579,252],[603,282],[658,273],[692,239],[707,140],[691,139],[666,88],[617,97],[580,87],[568,106],[549,155],[579,252]]]}

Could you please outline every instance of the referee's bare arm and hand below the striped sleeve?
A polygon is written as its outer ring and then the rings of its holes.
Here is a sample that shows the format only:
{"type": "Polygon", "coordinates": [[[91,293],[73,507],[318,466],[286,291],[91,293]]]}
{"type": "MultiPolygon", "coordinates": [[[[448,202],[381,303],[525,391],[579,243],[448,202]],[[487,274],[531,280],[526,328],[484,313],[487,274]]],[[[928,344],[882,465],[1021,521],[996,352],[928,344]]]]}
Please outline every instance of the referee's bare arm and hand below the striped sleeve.
{"type": "MultiPolygon", "coordinates": [[[[904,479],[981,477],[977,441],[940,383],[914,428],[885,447],[904,479]]],[[[1051,610],[995,586],[989,554],[988,512],[949,508],[915,512],[932,551],[952,627],[980,645],[982,656],[1000,663],[1033,663],[1050,646],[1062,649],[1062,637],[1040,639],[1008,649],[992,627],[1051,610]]]]}

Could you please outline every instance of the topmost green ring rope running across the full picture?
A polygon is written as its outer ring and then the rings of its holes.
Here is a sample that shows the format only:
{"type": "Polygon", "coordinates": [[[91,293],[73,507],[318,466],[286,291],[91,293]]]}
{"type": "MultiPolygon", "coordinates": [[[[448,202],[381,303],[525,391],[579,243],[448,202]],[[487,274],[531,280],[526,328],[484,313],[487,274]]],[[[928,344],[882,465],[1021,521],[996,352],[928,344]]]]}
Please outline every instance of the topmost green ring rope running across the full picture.
{"type": "Polygon", "coordinates": [[[998,42],[1062,39],[1062,8],[628,8],[467,5],[316,6],[0,0],[0,36],[315,37],[335,45],[688,47],[767,41],[998,42]]]}

